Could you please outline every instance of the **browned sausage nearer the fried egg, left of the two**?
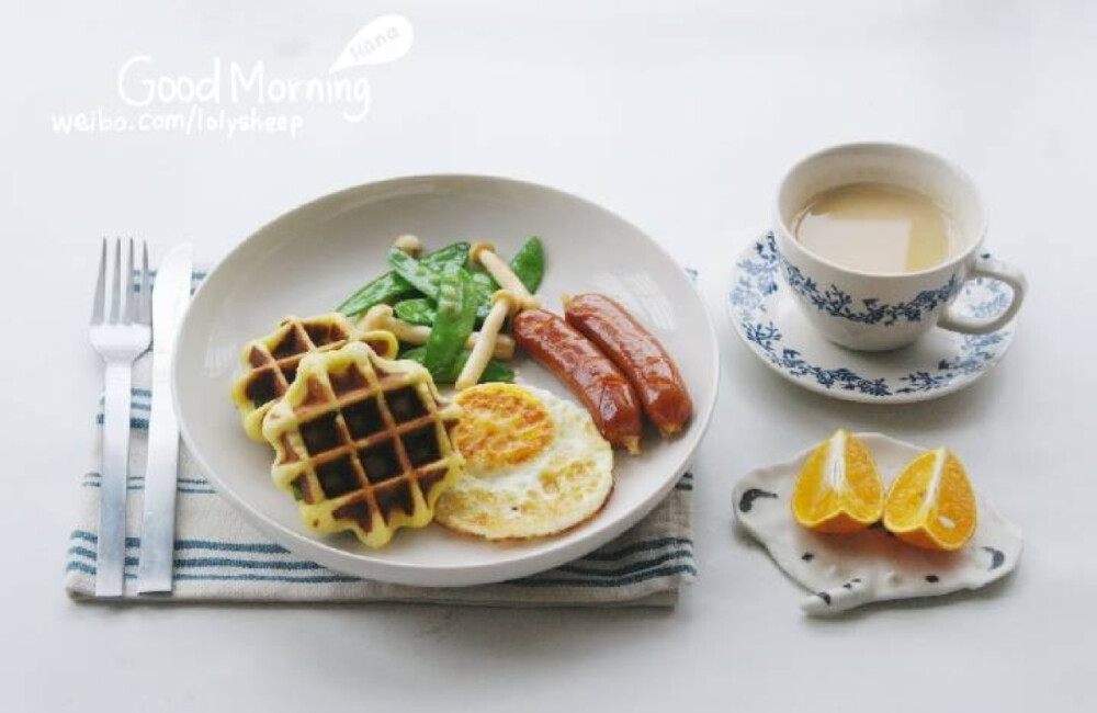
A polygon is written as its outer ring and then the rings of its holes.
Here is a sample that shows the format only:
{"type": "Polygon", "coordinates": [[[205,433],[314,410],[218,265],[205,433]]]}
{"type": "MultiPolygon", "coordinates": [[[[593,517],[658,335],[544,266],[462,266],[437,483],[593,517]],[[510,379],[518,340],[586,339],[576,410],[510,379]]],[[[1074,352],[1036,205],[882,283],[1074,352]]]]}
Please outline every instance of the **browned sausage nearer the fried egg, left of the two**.
{"type": "Polygon", "coordinates": [[[511,333],[519,347],[583,400],[607,441],[633,455],[640,453],[640,401],[629,380],[606,354],[544,309],[516,315],[511,333]]]}

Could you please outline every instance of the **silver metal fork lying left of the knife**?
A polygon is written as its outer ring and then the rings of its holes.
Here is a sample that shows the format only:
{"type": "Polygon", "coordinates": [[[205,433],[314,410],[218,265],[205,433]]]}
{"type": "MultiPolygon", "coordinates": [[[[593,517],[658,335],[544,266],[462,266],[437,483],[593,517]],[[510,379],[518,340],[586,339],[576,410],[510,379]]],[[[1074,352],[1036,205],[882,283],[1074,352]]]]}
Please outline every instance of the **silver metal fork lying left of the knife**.
{"type": "Polygon", "coordinates": [[[91,313],[91,346],[106,362],[103,406],[103,464],[99,501],[99,547],[95,596],[121,597],[126,552],[126,476],[129,463],[129,399],[133,363],[148,349],[151,329],[151,285],[148,246],[142,247],[139,292],[134,288],[134,240],[129,238],[125,292],[122,292],[122,240],[114,241],[110,315],[106,314],[106,238],[99,256],[95,304],[91,313]]]}

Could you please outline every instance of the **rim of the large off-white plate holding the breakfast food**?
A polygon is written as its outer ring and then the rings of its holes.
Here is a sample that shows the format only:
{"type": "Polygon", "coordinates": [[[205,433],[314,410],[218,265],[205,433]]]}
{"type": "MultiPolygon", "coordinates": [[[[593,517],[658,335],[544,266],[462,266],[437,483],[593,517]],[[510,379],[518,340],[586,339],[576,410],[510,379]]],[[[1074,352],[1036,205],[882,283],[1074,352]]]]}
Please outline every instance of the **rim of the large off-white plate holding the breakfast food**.
{"type": "MultiPolygon", "coordinates": [[[[186,314],[180,324],[179,330],[177,332],[177,343],[176,353],[172,355],[171,364],[171,391],[173,395],[173,406],[176,411],[176,417],[179,422],[179,432],[182,437],[183,442],[190,450],[191,456],[197,464],[199,468],[202,471],[203,475],[210,480],[211,485],[217,490],[219,497],[224,498],[234,509],[241,512],[248,520],[249,524],[259,530],[262,534],[270,537],[278,544],[282,545],[293,554],[305,557],[313,562],[317,562],[330,569],[336,571],[341,571],[343,574],[349,574],[357,577],[371,578],[377,581],[385,581],[391,584],[402,584],[411,586],[431,586],[431,587],[461,587],[461,586],[474,586],[484,584],[494,584],[510,579],[517,579],[521,577],[528,577],[533,574],[545,571],[557,567],[567,562],[572,562],[579,558],[590,552],[597,550],[601,545],[612,541],[617,536],[623,534],[625,531],[638,523],[643,518],[652,512],[670,493],[674,486],[681,478],[682,474],[686,473],[693,460],[697,450],[700,448],[701,442],[704,440],[704,435],[709,430],[712,422],[712,416],[715,412],[715,407],[720,398],[720,384],[722,381],[722,369],[720,359],[720,339],[716,331],[715,321],[713,315],[709,309],[709,306],[699,290],[698,285],[689,279],[685,272],[683,265],[670,254],[670,252],[655,238],[653,238],[647,231],[641,229],[633,222],[624,218],[619,213],[611,211],[588,200],[576,193],[568,191],[563,191],[561,189],[546,185],[543,183],[536,183],[533,181],[514,179],[494,174],[482,174],[482,173],[416,173],[408,176],[397,176],[386,179],[381,179],[377,181],[367,181],[365,183],[360,183],[349,188],[340,189],[337,191],[325,193],[313,200],[306,201],[292,207],[283,213],[280,213],[270,220],[267,220],[261,226],[256,228],[245,238],[239,240],[227,253],[225,253],[214,265],[212,265],[207,271],[205,279],[199,284],[197,290],[191,298],[191,306],[197,303],[202,298],[203,292],[208,291],[208,285],[211,281],[217,275],[217,272],[223,265],[229,263],[234,259],[238,259],[237,256],[244,252],[248,246],[262,239],[265,235],[278,224],[299,217],[302,214],[306,214],[310,211],[315,211],[321,207],[326,203],[338,203],[339,201],[346,200],[347,197],[361,192],[369,191],[382,191],[385,189],[393,189],[400,184],[415,184],[425,181],[456,181],[456,182],[486,182],[486,183],[497,183],[502,185],[511,185],[521,190],[533,190],[547,192],[550,194],[555,194],[559,197],[578,202],[587,207],[600,211],[608,217],[618,220],[622,226],[632,230],[640,239],[646,240],[651,247],[655,248],[656,252],[666,260],[667,263],[674,265],[676,269],[681,271],[682,279],[689,286],[691,294],[697,299],[697,306],[700,307],[700,313],[702,315],[702,324],[706,331],[710,349],[709,359],[713,365],[711,374],[709,375],[708,383],[702,384],[702,393],[711,394],[708,404],[700,410],[695,410],[693,414],[692,422],[688,431],[695,431],[695,435],[691,435],[692,442],[688,444],[686,452],[681,456],[680,461],[674,466],[672,474],[665,479],[665,482],[649,495],[646,499],[642,500],[638,506],[629,510],[614,523],[607,525],[601,530],[593,530],[586,535],[580,535],[572,542],[566,542],[558,547],[553,547],[547,551],[542,552],[531,552],[525,555],[520,555],[512,559],[508,559],[501,563],[480,563],[473,565],[415,565],[400,562],[385,562],[378,559],[372,559],[369,552],[351,553],[346,550],[335,547],[326,541],[314,540],[308,536],[296,532],[295,530],[285,527],[273,519],[265,516],[263,512],[259,511],[247,500],[238,496],[231,487],[229,487],[219,476],[213,467],[211,467],[207,459],[203,455],[202,451],[195,445],[193,434],[191,433],[190,427],[188,426],[186,419],[182,412],[182,399],[179,398],[180,385],[179,381],[181,378],[181,367],[179,359],[176,359],[176,354],[179,352],[179,346],[183,342],[183,335],[192,328],[192,315],[194,312],[188,308],[186,314]],[[349,569],[347,558],[350,557],[352,563],[355,563],[359,568],[349,569]],[[506,571],[500,571],[500,570],[506,571]],[[370,570],[367,574],[363,574],[364,570],[370,570]],[[431,577],[431,573],[440,573],[442,576],[431,577]]],[[[702,375],[703,377],[703,375],[702,375]]]]}

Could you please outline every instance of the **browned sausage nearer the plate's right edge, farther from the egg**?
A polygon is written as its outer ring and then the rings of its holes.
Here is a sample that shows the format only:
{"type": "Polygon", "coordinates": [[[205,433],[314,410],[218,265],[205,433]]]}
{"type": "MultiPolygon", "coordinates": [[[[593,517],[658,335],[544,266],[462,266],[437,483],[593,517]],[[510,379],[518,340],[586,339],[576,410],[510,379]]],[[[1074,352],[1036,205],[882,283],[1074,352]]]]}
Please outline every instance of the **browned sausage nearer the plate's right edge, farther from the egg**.
{"type": "Polygon", "coordinates": [[[668,437],[682,430],[693,414],[693,400],[675,361],[652,332],[604,295],[566,299],[564,315],[629,378],[659,433],[668,437]]]}

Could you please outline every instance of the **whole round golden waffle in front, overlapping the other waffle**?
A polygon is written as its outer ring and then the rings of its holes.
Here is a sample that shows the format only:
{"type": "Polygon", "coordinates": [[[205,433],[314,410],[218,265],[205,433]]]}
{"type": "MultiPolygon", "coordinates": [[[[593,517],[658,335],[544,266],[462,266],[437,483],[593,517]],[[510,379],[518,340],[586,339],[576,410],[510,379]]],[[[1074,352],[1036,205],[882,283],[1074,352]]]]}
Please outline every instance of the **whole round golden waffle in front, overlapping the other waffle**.
{"type": "Polygon", "coordinates": [[[274,484],[298,500],[305,524],[351,530],[380,547],[421,528],[464,471],[450,441],[461,407],[440,405],[430,373],[352,341],[308,354],[263,420],[274,484]]]}

